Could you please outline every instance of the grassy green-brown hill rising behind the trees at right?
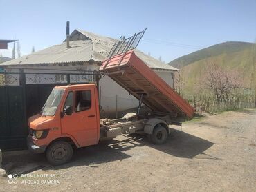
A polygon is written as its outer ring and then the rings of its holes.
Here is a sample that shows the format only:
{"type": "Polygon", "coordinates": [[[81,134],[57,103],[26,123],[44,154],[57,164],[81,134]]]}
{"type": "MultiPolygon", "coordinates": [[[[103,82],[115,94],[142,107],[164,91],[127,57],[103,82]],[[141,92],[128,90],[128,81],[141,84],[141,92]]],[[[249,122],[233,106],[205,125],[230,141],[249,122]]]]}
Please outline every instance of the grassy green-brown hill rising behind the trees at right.
{"type": "Polygon", "coordinates": [[[244,86],[250,87],[253,64],[256,62],[256,44],[246,42],[217,44],[175,59],[169,64],[181,68],[185,92],[192,93],[194,85],[200,81],[205,67],[210,62],[227,70],[239,71],[244,86]]]}

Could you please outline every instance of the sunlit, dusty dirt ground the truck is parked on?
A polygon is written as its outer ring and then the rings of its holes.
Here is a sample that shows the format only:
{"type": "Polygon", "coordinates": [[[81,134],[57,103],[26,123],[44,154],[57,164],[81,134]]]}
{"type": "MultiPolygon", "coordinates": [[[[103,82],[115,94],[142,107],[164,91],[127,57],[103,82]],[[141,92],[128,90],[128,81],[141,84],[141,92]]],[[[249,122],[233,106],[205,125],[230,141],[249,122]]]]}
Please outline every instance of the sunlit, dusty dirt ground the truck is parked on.
{"type": "Polygon", "coordinates": [[[0,177],[0,191],[256,191],[256,111],[185,122],[163,145],[120,136],[75,151],[63,166],[27,151],[3,153],[10,162],[42,169],[17,184],[0,177]]]}

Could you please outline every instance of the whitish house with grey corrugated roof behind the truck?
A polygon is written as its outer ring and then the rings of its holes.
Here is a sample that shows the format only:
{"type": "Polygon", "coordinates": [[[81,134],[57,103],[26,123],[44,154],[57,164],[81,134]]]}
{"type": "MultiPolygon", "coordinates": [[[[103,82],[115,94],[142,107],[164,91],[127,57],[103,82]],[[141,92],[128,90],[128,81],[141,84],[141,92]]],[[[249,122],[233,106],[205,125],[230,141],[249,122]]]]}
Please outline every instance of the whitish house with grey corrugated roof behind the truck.
{"type": "MultiPolygon", "coordinates": [[[[90,74],[98,71],[101,62],[107,58],[113,44],[117,41],[118,40],[111,37],[95,35],[94,33],[83,30],[74,30],[69,36],[68,48],[65,39],[62,44],[51,46],[30,55],[8,61],[2,66],[6,66],[8,71],[17,70],[19,68],[23,69],[24,72],[28,71],[30,73],[42,72],[42,70],[44,73],[54,73],[61,69],[62,73],[71,73],[71,71],[76,73],[75,70],[77,70],[90,74]]],[[[177,70],[176,68],[163,64],[161,61],[149,55],[145,55],[140,50],[135,50],[135,53],[140,59],[145,61],[145,64],[164,79],[167,84],[172,87],[174,86],[174,71],[177,70]]],[[[40,79],[37,75],[30,75],[30,81],[37,82],[32,77],[40,79]]],[[[44,79],[47,78],[41,79],[43,82],[38,83],[48,83],[44,82],[44,79]]],[[[88,81],[93,81],[90,75],[87,75],[87,77],[85,75],[71,76],[71,83],[88,81]]],[[[116,116],[118,112],[138,106],[137,99],[129,95],[126,90],[109,77],[102,77],[102,79],[100,79],[100,88],[102,115],[104,117],[113,117],[116,116]]]]}

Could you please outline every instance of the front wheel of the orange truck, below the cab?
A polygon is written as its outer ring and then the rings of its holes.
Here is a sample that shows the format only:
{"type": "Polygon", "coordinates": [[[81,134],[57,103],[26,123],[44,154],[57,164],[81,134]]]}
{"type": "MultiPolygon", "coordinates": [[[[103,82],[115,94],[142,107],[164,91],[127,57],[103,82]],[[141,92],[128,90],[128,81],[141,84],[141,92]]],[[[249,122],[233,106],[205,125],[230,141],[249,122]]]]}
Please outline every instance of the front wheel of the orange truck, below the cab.
{"type": "Polygon", "coordinates": [[[46,150],[46,158],[50,164],[60,165],[65,164],[73,155],[73,148],[68,142],[55,142],[46,150]]]}

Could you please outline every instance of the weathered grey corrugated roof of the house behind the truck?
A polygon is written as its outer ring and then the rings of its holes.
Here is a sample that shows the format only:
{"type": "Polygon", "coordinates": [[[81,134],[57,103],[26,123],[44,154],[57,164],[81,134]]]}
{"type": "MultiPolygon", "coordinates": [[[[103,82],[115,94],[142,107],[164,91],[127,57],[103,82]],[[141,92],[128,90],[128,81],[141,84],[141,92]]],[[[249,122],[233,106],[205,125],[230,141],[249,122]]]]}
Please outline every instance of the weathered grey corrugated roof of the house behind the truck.
{"type": "MultiPolygon", "coordinates": [[[[39,50],[30,55],[4,62],[1,66],[19,66],[30,64],[61,64],[86,61],[101,62],[107,58],[113,44],[118,41],[111,37],[95,35],[91,32],[83,30],[74,30],[70,37],[76,33],[80,33],[88,38],[86,40],[70,41],[70,48],[66,48],[66,40],[60,44],[51,46],[44,50],[39,50]]],[[[149,55],[145,55],[140,50],[136,50],[136,55],[145,61],[150,67],[158,70],[177,70],[176,68],[163,64],[161,61],[154,59],[149,55]]]]}

